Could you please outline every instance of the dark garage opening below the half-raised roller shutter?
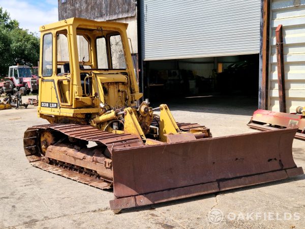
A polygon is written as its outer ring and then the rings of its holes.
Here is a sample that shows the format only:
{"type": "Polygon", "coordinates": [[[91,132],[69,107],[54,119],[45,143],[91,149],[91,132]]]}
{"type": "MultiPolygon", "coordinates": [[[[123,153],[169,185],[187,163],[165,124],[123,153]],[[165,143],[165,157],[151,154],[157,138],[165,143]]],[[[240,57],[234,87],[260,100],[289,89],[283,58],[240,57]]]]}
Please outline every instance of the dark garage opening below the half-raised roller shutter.
{"type": "Polygon", "coordinates": [[[146,97],[258,98],[259,55],[219,56],[145,63],[146,97]]]}

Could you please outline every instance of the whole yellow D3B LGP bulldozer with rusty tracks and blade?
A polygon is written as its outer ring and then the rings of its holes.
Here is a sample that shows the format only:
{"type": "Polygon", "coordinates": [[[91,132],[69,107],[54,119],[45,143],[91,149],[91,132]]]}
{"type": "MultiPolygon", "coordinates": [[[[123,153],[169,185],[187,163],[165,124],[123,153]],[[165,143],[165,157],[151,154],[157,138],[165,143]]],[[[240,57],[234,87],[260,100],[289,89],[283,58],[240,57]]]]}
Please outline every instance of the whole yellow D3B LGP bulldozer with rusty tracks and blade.
{"type": "Polygon", "coordinates": [[[166,104],[139,103],[127,26],[71,18],[40,27],[38,116],[50,124],[24,133],[32,165],[112,188],[112,210],[303,174],[295,128],[212,138],[177,123],[166,104]]]}

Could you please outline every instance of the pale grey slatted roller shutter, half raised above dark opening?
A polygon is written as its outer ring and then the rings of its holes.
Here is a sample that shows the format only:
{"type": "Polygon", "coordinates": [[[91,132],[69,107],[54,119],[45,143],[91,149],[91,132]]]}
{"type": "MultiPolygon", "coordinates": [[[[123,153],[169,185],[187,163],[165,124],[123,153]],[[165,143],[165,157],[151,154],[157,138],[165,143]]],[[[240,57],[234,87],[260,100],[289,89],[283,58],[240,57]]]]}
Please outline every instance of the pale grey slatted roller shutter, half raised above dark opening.
{"type": "Polygon", "coordinates": [[[260,0],[143,0],[144,60],[259,53],[260,0]]]}

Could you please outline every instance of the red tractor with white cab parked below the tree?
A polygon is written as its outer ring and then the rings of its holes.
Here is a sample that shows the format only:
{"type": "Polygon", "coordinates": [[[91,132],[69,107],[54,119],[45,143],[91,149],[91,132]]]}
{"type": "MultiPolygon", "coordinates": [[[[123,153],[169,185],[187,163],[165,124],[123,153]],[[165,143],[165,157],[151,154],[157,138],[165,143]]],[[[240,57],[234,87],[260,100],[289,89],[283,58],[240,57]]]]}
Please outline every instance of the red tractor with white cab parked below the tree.
{"type": "Polygon", "coordinates": [[[9,76],[5,81],[0,81],[0,94],[16,94],[20,91],[23,95],[38,92],[39,77],[32,75],[31,68],[28,66],[11,66],[9,76]]]}

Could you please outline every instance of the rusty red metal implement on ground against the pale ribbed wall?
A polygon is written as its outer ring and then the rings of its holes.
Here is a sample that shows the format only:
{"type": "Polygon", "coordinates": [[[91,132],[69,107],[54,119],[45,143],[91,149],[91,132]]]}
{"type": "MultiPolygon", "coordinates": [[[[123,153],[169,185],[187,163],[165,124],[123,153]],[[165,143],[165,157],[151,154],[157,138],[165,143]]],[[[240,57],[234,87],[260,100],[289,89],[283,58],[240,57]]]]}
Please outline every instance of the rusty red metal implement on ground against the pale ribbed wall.
{"type": "Polygon", "coordinates": [[[248,126],[256,130],[297,127],[294,137],[305,140],[305,117],[297,114],[258,109],[254,111],[248,126]]]}

